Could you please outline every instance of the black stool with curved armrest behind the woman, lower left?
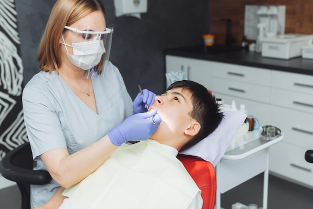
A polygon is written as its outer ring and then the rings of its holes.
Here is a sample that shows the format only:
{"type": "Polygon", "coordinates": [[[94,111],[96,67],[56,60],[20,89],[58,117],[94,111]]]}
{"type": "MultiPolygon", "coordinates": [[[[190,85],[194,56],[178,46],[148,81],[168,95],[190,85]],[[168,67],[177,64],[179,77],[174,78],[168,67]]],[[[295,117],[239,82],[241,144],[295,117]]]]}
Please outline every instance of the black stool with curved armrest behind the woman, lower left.
{"type": "Polygon", "coordinates": [[[30,209],[30,184],[42,185],[50,182],[45,170],[32,170],[33,160],[29,142],[9,151],[0,161],[1,175],[16,182],[21,195],[21,209],[30,209]]]}

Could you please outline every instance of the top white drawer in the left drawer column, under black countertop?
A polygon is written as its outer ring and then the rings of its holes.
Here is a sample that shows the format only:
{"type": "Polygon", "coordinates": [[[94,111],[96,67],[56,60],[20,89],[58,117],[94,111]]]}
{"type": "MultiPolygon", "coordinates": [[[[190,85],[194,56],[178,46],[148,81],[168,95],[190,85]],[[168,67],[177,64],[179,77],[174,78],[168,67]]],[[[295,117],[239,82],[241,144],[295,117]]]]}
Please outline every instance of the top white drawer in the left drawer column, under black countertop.
{"type": "Polygon", "coordinates": [[[213,77],[270,86],[270,70],[217,62],[211,63],[213,77]]]}

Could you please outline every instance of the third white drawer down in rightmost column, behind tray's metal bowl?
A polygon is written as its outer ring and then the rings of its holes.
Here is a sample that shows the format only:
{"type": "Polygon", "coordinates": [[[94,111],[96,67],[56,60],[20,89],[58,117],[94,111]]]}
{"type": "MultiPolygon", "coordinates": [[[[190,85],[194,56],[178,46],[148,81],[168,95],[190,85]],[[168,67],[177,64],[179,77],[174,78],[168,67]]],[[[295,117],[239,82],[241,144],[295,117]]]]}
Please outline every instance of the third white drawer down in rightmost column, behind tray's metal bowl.
{"type": "Polygon", "coordinates": [[[272,106],[270,117],[270,125],[284,133],[284,142],[313,149],[313,114],[272,106]]]}

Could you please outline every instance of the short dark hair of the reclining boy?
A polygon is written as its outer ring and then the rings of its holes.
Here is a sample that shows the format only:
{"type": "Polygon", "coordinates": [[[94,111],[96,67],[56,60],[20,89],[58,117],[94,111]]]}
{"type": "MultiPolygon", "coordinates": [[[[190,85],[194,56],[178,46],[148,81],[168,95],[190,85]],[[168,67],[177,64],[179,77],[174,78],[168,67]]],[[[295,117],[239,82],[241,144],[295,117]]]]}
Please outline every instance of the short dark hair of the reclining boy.
{"type": "Polygon", "coordinates": [[[176,81],[167,90],[174,88],[187,89],[191,93],[193,109],[189,115],[201,125],[199,132],[180,149],[184,150],[212,133],[222,120],[223,114],[218,109],[215,97],[201,84],[187,80],[176,81]]]}

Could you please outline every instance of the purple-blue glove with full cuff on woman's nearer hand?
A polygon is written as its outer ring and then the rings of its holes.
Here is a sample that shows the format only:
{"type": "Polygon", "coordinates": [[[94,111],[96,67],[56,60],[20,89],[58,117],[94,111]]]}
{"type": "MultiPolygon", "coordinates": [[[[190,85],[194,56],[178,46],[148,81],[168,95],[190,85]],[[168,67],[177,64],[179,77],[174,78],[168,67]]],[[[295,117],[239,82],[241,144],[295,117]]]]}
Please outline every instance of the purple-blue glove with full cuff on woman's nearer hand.
{"type": "Polygon", "coordinates": [[[126,118],[121,124],[108,132],[111,142],[117,146],[127,141],[146,140],[152,136],[161,122],[157,110],[138,113],[126,118]],[[153,125],[152,117],[155,120],[153,125]]]}

